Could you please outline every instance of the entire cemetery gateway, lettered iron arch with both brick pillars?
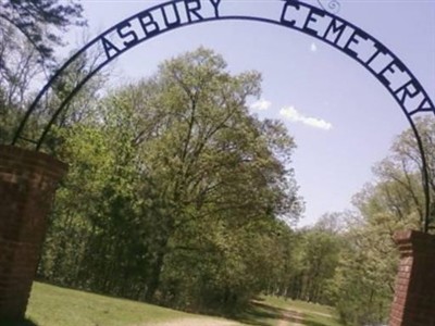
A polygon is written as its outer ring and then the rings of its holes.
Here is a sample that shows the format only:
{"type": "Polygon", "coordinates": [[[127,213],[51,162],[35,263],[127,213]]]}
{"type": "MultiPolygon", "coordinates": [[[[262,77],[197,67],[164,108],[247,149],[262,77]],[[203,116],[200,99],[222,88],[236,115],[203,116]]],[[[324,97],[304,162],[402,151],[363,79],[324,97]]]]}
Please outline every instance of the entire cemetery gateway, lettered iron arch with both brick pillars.
{"type": "MultiPolygon", "coordinates": [[[[321,0],[318,2],[321,4],[321,0]]],[[[146,9],[109,28],[76,52],[48,80],[25,113],[12,145],[27,141],[38,151],[51,126],[80,88],[102,67],[141,42],[178,27],[206,22],[237,20],[273,24],[314,37],[352,58],[396,100],[414,131],[421,153],[425,196],[422,229],[427,233],[430,174],[417,117],[431,115],[435,121],[435,108],[413,74],[377,39],[323,5],[270,0],[270,10],[262,11],[261,5],[236,3],[234,0],[173,0],[146,9]],[[92,58],[90,64],[89,58],[92,58]],[[82,77],[66,83],[65,75],[76,71],[82,77]],[[59,89],[64,95],[59,106],[47,123],[38,122],[39,110],[52,99],[53,90],[59,89]]],[[[55,184],[66,172],[65,164],[47,154],[13,146],[0,145],[0,323],[24,317],[46,231],[46,216],[55,184]]],[[[397,241],[401,261],[389,325],[435,325],[435,237],[407,233],[399,235],[397,241]]]]}

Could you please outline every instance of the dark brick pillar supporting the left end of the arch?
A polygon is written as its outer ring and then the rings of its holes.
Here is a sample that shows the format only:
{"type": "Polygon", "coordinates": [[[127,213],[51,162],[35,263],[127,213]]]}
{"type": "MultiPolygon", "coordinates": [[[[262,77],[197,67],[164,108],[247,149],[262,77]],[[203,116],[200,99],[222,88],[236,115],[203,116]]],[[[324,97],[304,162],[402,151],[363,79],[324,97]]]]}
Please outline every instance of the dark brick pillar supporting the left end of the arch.
{"type": "Polygon", "coordinates": [[[47,154],[0,146],[0,324],[24,318],[47,214],[65,172],[47,154]]]}

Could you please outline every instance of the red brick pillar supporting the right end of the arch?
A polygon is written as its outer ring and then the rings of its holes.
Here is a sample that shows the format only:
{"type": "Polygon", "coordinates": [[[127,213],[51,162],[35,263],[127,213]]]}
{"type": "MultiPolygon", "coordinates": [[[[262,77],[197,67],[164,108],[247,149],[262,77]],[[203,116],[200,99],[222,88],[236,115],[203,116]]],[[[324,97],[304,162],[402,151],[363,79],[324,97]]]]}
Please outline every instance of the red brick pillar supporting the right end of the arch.
{"type": "Polygon", "coordinates": [[[400,251],[389,326],[435,326],[435,236],[395,235],[400,251]]]}

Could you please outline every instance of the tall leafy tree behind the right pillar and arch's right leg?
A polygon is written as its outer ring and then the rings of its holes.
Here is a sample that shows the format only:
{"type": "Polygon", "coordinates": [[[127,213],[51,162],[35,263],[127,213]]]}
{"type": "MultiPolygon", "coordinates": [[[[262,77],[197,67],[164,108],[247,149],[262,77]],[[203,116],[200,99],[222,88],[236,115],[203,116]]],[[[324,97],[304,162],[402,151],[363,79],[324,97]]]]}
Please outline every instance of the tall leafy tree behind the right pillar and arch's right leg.
{"type": "MultiPolygon", "coordinates": [[[[435,125],[427,116],[417,126],[426,150],[430,195],[434,198],[435,125]]],[[[394,234],[425,228],[423,164],[411,129],[395,139],[389,155],[373,172],[375,183],[353,197],[357,211],[349,220],[347,246],[335,277],[337,309],[349,325],[386,321],[398,263],[394,234]]]]}

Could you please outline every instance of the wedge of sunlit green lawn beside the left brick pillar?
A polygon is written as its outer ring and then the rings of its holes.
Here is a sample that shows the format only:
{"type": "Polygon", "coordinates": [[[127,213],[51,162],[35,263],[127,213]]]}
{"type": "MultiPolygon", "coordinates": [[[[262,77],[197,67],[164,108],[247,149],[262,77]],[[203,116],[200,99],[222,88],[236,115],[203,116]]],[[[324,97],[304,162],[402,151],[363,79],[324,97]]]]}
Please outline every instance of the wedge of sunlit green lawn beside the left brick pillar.
{"type": "Polygon", "coordinates": [[[120,326],[204,316],[34,283],[26,317],[38,326],[120,326]]]}

